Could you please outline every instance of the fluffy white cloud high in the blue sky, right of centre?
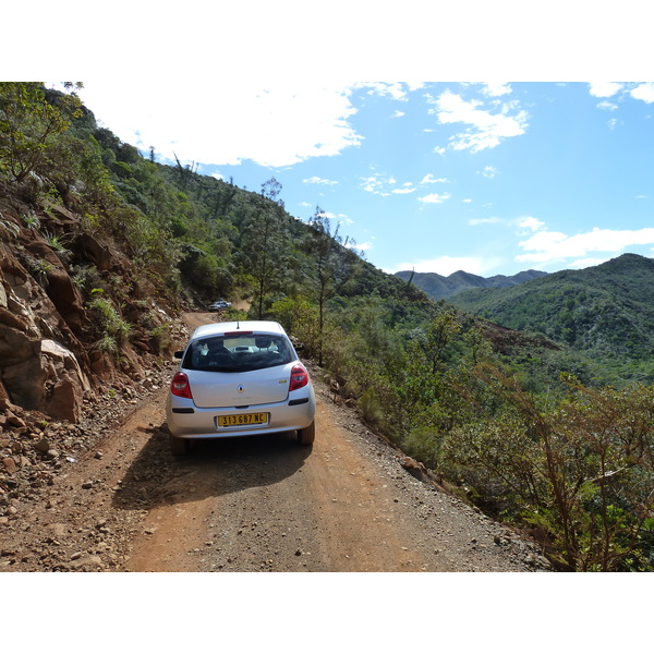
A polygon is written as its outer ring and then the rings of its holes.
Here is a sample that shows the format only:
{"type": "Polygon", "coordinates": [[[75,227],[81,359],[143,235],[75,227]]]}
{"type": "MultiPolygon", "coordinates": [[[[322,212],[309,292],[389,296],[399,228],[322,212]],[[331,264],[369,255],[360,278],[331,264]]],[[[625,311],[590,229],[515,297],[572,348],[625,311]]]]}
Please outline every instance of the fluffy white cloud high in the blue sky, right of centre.
{"type": "Polygon", "coordinates": [[[464,100],[461,96],[445,90],[435,100],[429,110],[441,124],[464,123],[471,125],[463,133],[451,137],[450,147],[457,150],[470,149],[472,153],[498,146],[505,138],[524,134],[528,126],[528,113],[518,110],[517,102],[505,102],[499,112],[492,113],[482,109],[481,100],[464,100]],[[510,112],[513,111],[513,114],[510,112]]]}

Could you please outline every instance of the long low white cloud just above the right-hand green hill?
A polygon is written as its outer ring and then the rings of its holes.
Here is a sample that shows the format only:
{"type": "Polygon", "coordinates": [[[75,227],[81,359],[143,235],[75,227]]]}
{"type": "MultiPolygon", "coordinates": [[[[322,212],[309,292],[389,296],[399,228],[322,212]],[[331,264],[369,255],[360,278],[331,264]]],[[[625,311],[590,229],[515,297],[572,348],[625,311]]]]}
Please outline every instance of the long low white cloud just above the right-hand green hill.
{"type": "Polygon", "coordinates": [[[595,227],[590,232],[572,237],[543,229],[520,242],[525,254],[516,256],[516,261],[556,263],[585,258],[593,252],[616,254],[633,245],[654,245],[654,228],[616,230],[595,227]]]}

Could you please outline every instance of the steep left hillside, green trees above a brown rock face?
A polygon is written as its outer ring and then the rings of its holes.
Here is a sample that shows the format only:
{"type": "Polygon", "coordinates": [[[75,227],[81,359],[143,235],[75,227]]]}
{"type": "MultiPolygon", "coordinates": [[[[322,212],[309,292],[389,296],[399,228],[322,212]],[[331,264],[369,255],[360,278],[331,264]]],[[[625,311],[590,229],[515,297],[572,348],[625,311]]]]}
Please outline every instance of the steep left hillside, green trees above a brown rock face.
{"type": "Polygon", "coordinates": [[[218,296],[259,313],[290,289],[427,302],[318,210],[311,226],[290,216],[280,191],[144,158],[74,94],[1,83],[1,408],[78,421],[85,400],[170,351],[183,307],[218,296]]]}

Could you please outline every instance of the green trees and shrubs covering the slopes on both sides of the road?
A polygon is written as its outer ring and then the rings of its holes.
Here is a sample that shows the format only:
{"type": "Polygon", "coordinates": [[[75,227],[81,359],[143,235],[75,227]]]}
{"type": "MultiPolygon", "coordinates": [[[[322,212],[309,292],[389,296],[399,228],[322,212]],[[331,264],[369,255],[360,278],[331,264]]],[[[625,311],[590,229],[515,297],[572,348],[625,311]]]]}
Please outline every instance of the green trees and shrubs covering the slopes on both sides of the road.
{"type": "MultiPolygon", "coordinates": [[[[306,222],[290,216],[275,178],[255,193],[160,165],[154,148],[143,157],[74,87],[0,83],[0,181],[32,207],[35,232],[53,206],[78,217],[49,220],[41,237],[83,294],[98,350],[120,358],[146,299],[251,299],[249,316],[302,341],[371,428],[453,493],[533,530],[561,568],[654,569],[650,259],[433,302],[365,262],[319,207],[306,222]],[[122,253],[132,286],[70,256],[80,233],[122,253]]],[[[15,237],[0,216],[0,238],[15,237]]],[[[46,283],[45,262],[29,265],[46,283]]],[[[150,323],[166,343],[169,328],[150,323]]]]}

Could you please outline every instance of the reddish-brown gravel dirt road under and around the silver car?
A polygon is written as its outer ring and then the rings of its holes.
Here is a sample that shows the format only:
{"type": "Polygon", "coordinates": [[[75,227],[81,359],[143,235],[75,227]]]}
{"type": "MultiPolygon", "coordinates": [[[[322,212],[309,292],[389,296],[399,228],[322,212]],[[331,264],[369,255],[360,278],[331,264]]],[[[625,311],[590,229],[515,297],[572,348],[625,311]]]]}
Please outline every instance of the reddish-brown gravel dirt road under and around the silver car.
{"type": "MultiPolygon", "coordinates": [[[[190,325],[215,316],[187,316],[190,325]]],[[[433,484],[316,383],[316,440],[168,448],[162,386],[23,507],[4,570],[522,571],[537,549],[433,484]],[[9,562],[8,562],[9,561],[9,562]]]]}

